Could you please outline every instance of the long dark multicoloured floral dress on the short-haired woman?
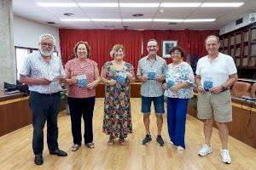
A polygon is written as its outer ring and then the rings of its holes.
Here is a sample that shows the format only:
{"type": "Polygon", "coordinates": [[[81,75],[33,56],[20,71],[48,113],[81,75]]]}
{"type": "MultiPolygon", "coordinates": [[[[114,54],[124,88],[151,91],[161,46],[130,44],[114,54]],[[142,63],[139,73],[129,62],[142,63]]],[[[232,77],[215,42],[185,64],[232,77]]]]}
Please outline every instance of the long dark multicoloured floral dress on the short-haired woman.
{"type": "MultiPolygon", "coordinates": [[[[108,69],[107,80],[116,80],[119,72],[111,61],[103,65],[108,69]]],[[[123,72],[131,72],[133,66],[125,63],[123,72]]],[[[132,133],[130,81],[126,77],[124,83],[116,83],[113,86],[106,85],[104,101],[103,133],[112,135],[113,138],[126,138],[127,133],[132,133]]]]}

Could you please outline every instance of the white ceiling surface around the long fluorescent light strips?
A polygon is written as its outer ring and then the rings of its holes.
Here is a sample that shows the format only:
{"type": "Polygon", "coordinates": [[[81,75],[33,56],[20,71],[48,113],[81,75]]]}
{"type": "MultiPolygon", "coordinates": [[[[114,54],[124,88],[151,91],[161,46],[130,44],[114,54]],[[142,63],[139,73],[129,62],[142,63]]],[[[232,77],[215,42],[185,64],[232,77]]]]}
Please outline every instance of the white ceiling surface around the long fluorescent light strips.
{"type": "Polygon", "coordinates": [[[132,30],[218,30],[249,13],[256,12],[256,0],[13,0],[14,14],[27,20],[67,29],[127,29],[132,30]],[[244,3],[239,8],[44,8],[36,3],[244,3]],[[161,11],[163,10],[163,11],[161,11]],[[73,13],[67,17],[64,13],[73,13]],[[132,14],[143,14],[139,19],[212,19],[213,22],[63,22],[61,18],[136,19],[132,14]],[[108,27],[110,26],[110,27],[108,27]]]}

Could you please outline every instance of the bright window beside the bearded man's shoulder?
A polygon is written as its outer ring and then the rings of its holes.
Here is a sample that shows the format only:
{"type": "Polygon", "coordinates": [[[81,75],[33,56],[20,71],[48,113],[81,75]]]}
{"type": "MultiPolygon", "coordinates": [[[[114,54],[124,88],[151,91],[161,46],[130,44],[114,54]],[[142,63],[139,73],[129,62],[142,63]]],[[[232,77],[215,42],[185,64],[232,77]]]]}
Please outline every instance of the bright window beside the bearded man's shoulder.
{"type": "Polygon", "coordinates": [[[38,51],[36,48],[22,48],[22,47],[16,47],[15,46],[15,59],[16,59],[16,79],[19,78],[20,67],[22,60],[26,54],[31,54],[38,51]]]}

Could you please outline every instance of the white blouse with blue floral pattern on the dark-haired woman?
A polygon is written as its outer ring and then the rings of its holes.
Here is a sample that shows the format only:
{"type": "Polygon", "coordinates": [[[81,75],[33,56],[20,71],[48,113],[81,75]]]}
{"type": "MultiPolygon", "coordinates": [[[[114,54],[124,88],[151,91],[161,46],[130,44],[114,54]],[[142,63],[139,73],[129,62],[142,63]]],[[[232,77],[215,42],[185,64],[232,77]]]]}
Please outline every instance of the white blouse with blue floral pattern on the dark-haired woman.
{"type": "Polygon", "coordinates": [[[179,65],[167,65],[166,69],[166,82],[171,80],[175,84],[181,82],[189,82],[191,86],[189,88],[180,88],[177,92],[173,92],[171,88],[165,90],[165,96],[168,98],[179,98],[179,99],[189,99],[193,97],[193,85],[195,84],[195,77],[191,66],[182,62],[179,65]]]}

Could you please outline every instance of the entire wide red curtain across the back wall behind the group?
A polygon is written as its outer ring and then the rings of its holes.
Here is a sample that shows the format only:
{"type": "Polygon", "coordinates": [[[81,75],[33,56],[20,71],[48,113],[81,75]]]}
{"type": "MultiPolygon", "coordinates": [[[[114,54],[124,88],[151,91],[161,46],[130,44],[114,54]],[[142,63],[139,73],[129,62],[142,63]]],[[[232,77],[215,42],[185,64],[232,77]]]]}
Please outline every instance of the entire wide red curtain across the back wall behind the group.
{"type": "MultiPolygon", "coordinates": [[[[177,45],[190,54],[190,63],[194,63],[194,57],[202,57],[207,54],[204,41],[209,35],[218,35],[218,31],[131,31],[131,30],[67,30],[60,29],[61,57],[65,64],[73,54],[73,46],[76,42],[86,41],[90,45],[90,58],[102,65],[112,60],[109,52],[114,44],[121,43],[125,48],[125,61],[130,62],[137,71],[137,62],[142,56],[148,54],[147,42],[156,39],[159,42],[158,54],[162,55],[161,43],[164,40],[177,40],[177,45]],[[143,50],[143,54],[142,54],[143,50]]],[[[172,59],[166,59],[167,63],[172,59]]]]}

